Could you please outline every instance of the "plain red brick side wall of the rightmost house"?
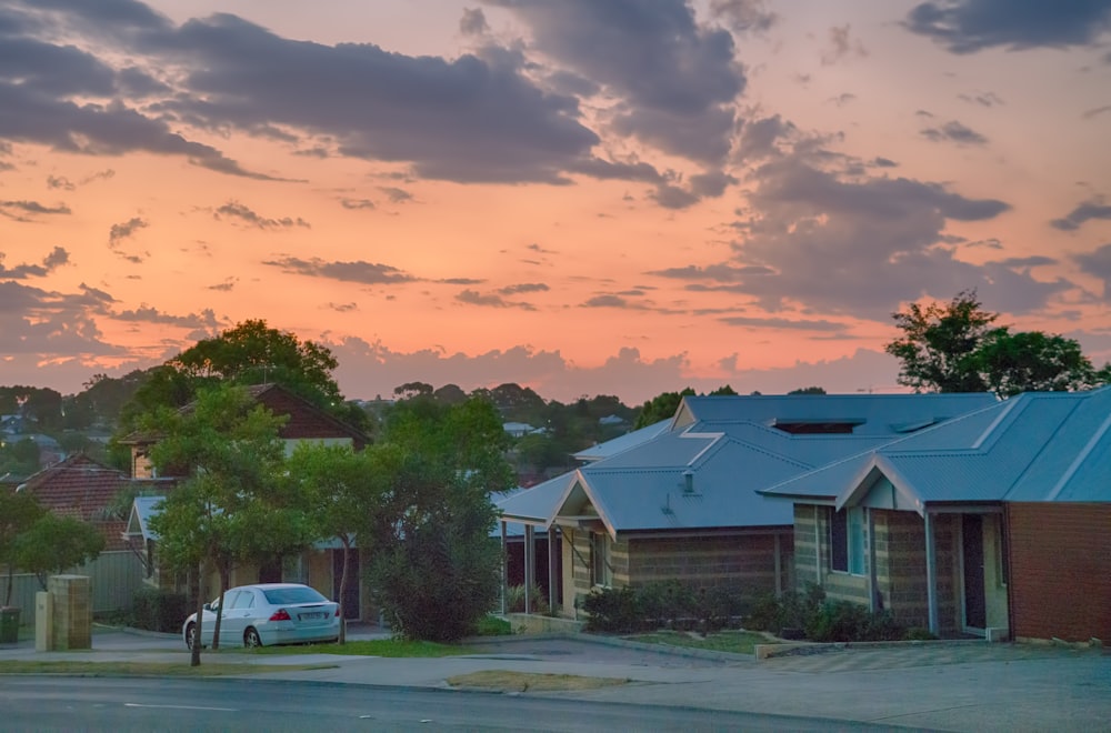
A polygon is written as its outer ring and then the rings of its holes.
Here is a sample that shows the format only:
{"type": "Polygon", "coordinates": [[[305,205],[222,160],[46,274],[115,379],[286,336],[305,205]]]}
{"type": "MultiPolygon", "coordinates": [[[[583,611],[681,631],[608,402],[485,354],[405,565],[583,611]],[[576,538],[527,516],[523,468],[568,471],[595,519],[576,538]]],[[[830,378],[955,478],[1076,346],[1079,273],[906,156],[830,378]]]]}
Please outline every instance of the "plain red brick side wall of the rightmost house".
{"type": "Polygon", "coordinates": [[[1007,505],[1012,633],[1111,642],[1111,504],[1007,505]]]}

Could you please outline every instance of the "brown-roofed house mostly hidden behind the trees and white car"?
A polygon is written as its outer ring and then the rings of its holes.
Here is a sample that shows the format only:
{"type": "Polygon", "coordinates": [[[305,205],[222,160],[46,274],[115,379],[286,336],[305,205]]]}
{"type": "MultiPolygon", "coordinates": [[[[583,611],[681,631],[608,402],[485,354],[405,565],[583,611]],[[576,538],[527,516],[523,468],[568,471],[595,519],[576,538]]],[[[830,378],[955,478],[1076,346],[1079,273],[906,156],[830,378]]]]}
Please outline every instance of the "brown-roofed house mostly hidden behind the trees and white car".
{"type": "MultiPolygon", "coordinates": [[[[247,388],[251,396],[268,408],[276,415],[288,418],[279,430],[279,436],[286,443],[286,453],[292,454],[299,443],[313,442],[329,445],[349,445],[352,450],[362,450],[369,439],[361,431],[333,418],[311,402],[293,394],[280,384],[257,384],[247,388]]],[[[182,410],[191,409],[189,405],[182,410]]],[[[150,449],[158,442],[158,435],[132,433],[121,443],[131,445],[131,464],[137,476],[152,476],[153,466],[150,463],[150,449]]],[[[134,546],[142,548],[146,558],[147,582],[174,590],[184,590],[183,579],[173,578],[160,572],[158,561],[158,538],[150,531],[149,520],[158,511],[161,498],[147,496],[137,500],[131,508],[124,536],[134,546]]],[[[358,550],[352,550],[351,572],[359,583],[349,583],[348,595],[343,602],[344,615],[348,619],[363,619],[372,615],[369,608],[370,593],[361,580],[359,572],[361,558],[358,550]]],[[[232,571],[231,584],[254,582],[289,581],[312,585],[331,599],[338,599],[340,575],[342,573],[343,548],[339,540],[317,543],[314,548],[296,558],[287,558],[283,563],[253,568],[240,565],[232,571]]],[[[219,588],[218,583],[209,583],[209,588],[219,588]]]]}

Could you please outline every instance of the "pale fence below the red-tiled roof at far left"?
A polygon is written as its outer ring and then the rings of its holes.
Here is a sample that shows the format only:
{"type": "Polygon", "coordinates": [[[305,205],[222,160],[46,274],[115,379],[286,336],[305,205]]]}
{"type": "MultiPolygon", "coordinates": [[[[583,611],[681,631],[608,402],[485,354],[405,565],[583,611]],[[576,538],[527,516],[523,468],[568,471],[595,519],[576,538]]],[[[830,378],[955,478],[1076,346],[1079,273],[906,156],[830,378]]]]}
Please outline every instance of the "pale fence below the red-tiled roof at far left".
{"type": "MultiPolygon", "coordinates": [[[[142,585],[142,563],[129,551],[102,552],[92,562],[68,570],[74,575],[88,575],[92,586],[92,613],[130,611],[136,591],[142,585]]],[[[16,573],[11,605],[20,608],[21,624],[34,623],[34,594],[42,590],[33,573],[16,573]]],[[[8,592],[8,572],[0,575],[0,602],[8,592]]]]}

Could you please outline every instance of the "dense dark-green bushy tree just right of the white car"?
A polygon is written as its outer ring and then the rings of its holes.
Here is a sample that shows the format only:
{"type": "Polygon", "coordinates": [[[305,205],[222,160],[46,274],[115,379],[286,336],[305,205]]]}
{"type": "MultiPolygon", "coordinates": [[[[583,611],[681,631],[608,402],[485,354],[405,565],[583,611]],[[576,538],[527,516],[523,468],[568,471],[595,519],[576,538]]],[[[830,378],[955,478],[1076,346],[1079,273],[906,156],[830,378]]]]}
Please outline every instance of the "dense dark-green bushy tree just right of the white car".
{"type": "Polygon", "coordinates": [[[394,405],[367,449],[387,486],[371,513],[370,575],[403,636],[456,640],[493,608],[501,558],[490,493],[514,484],[506,441],[486,400],[418,398],[394,405]]]}

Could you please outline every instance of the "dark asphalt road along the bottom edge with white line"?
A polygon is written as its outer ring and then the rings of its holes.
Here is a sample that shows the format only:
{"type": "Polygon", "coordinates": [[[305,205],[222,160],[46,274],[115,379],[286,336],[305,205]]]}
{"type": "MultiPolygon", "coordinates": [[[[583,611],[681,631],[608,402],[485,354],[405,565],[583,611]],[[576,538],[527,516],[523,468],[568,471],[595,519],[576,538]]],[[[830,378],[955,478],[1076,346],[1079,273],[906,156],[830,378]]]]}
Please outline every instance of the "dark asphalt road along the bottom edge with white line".
{"type": "Polygon", "coordinates": [[[266,680],[9,676],[4,731],[894,731],[688,707],[266,680]]]}

